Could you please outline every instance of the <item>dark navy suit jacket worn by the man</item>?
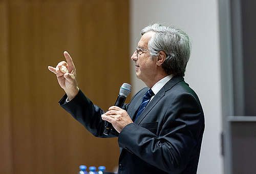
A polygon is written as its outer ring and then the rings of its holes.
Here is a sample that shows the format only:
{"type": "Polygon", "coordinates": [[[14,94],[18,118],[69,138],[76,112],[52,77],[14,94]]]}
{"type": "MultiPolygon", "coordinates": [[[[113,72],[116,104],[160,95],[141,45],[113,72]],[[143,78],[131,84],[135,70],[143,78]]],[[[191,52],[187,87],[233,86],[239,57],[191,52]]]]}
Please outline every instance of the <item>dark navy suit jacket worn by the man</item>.
{"type": "MultiPolygon", "coordinates": [[[[148,88],[139,91],[122,107],[135,119],[148,88]]],[[[118,134],[103,135],[103,111],[79,91],[68,103],[60,101],[77,121],[96,137],[118,136],[120,147],[118,173],[197,173],[204,115],[196,93],[183,77],[170,79],[147,104],[134,123],[118,134]]]]}

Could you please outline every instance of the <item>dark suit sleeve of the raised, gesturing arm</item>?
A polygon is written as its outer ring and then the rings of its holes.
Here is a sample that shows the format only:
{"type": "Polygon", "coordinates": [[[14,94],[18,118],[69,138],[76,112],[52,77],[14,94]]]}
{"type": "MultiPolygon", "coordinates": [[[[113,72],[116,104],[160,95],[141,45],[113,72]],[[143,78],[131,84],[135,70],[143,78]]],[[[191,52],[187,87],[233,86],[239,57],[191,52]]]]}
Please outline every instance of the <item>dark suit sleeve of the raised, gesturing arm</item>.
{"type": "Polygon", "coordinates": [[[118,136],[116,130],[111,131],[109,136],[103,134],[106,121],[101,119],[101,115],[104,111],[84,96],[81,90],[79,90],[77,96],[71,101],[65,102],[66,98],[67,95],[65,94],[59,101],[60,106],[86,127],[95,137],[110,138],[118,136]]]}

